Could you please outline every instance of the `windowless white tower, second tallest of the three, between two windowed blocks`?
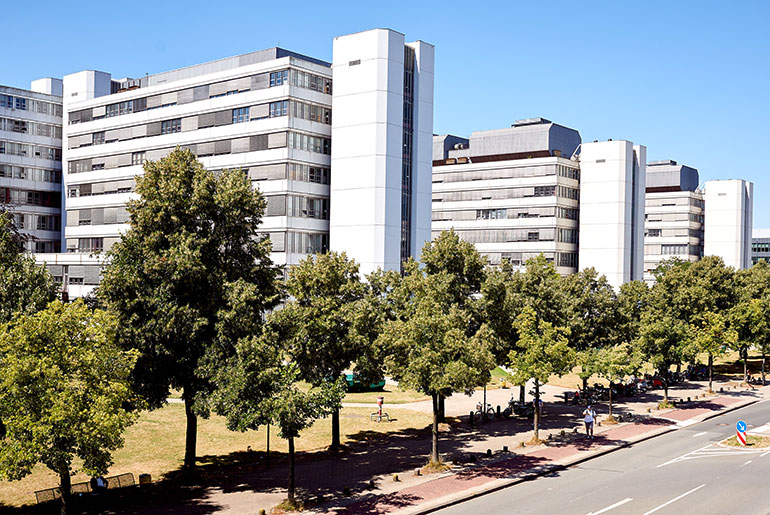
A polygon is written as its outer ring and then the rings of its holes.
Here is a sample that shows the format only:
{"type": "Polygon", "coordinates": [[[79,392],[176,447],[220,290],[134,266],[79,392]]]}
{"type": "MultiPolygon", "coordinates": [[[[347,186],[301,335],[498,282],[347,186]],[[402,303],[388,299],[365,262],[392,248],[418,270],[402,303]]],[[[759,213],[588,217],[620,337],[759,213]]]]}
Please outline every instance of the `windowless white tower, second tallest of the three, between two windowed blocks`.
{"type": "Polygon", "coordinates": [[[615,288],[642,279],[647,149],[630,141],[583,143],[578,266],[615,288]]]}

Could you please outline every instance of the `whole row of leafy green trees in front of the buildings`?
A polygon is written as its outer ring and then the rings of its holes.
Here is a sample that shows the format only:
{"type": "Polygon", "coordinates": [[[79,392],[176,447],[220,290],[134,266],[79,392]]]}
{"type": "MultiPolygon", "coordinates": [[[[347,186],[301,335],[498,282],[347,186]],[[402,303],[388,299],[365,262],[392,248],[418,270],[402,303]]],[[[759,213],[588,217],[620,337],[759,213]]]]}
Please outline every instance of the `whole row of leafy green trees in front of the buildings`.
{"type": "Polygon", "coordinates": [[[199,417],[214,411],[239,431],[274,424],[288,440],[294,502],[294,439],[330,416],[331,446],[341,444],[345,370],[429,395],[438,462],[444,399],[486,384],[497,365],[512,370],[522,396],[534,381],[537,438],[551,375],[579,366],[584,383],[618,381],[643,362],[669,370],[700,353],[711,365],[726,349],[766,350],[764,264],[736,272],[718,258],[674,260],[653,287],[616,292],[593,269],[561,277],[542,256],[523,271],[489,267],[450,231],[401,274],[363,278],[337,253],[284,271],[260,236],[265,201],[240,171],[214,174],[176,150],[145,164],[137,192],[90,306],[50,303],[50,276],[0,214],[0,477],[45,463],[65,499],[75,456],[104,473],[136,412],[178,389],[186,467],[199,417]]]}

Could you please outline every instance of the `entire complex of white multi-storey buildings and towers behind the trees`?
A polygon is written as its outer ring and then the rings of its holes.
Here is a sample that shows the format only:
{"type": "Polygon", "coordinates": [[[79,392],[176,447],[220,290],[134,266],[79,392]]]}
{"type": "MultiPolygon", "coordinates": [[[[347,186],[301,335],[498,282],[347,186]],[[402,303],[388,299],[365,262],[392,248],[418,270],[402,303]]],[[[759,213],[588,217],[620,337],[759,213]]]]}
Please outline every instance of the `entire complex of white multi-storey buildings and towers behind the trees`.
{"type": "Polygon", "coordinates": [[[69,296],[99,282],[143,164],[177,147],[239,168],[266,199],[272,259],[345,251],[399,270],[454,229],[492,264],[543,254],[561,274],[654,280],[668,257],[751,265],[753,187],[701,185],[624,140],[544,118],[433,133],[434,47],[375,29],[332,62],[270,48],[140,78],[86,70],[0,87],[0,203],[69,296]]]}

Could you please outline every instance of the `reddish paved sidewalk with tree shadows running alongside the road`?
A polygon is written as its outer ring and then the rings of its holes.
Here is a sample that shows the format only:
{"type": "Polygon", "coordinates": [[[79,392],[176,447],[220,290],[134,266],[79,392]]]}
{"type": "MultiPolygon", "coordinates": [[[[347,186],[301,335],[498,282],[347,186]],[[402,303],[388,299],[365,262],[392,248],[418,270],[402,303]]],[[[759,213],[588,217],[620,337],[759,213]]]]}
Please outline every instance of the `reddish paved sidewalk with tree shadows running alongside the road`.
{"type": "Polygon", "coordinates": [[[486,460],[486,463],[477,466],[458,468],[438,477],[423,479],[417,484],[404,485],[394,491],[366,494],[347,503],[320,505],[308,513],[324,512],[338,515],[424,513],[515,484],[533,475],[541,475],[612,452],[676,430],[678,427],[710,418],[726,410],[757,402],[760,398],[770,395],[769,389],[770,387],[757,391],[756,396],[727,392],[701,402],[688,403],[688,406],[681,409],[656,411],[654,416],[644,417],[635,423],[617,426],[605,424],[596,428],[596,437],[591,440],[582,434],[567,433],[554,438],[547,445],[498,453],[486,460]],[[678,424],[672,424],[672,422],[678,424]],[[345,505],[340,506],[341,504],[345,505]]]}

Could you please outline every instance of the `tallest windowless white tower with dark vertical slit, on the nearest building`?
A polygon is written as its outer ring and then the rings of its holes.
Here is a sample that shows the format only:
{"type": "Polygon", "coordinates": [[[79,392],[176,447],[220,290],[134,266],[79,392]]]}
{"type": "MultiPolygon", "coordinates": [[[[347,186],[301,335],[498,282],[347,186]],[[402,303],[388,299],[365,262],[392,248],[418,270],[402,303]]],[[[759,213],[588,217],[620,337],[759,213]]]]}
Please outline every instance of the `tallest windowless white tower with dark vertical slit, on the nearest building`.
{"type": "Polygon", "coordinates": [[[430,240],[433,58],[389,29],[334,39],[330,245],[362,273],[430,240]]]}

